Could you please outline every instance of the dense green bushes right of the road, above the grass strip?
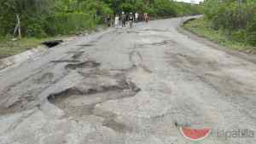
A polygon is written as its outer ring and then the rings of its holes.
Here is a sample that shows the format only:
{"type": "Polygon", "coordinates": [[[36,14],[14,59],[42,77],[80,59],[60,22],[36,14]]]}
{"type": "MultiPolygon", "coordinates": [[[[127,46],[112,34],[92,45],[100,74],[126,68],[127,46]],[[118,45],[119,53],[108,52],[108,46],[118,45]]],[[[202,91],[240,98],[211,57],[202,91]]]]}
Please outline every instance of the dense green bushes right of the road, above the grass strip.
{"type": "Polygon", "coordinates": [[[205,6],[213,29],[224,31],[232,40],[256,46],[255,0],[207,0],[205,6]]]}

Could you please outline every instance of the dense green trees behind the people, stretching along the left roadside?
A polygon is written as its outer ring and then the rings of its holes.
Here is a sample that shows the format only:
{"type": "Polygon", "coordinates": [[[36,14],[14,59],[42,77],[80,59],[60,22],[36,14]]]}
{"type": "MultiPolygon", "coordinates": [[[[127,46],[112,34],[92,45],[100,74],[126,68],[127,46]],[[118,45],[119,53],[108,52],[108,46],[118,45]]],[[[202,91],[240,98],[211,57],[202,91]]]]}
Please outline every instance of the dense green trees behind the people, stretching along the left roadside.
{"type": "Polygon", "coordinates": [[[81,32],[121,11],[153,17],[199,14],[200,6],[172,0],[0,0],[0,36],[12,35],[20,16],[23,37],[81,32]]]}

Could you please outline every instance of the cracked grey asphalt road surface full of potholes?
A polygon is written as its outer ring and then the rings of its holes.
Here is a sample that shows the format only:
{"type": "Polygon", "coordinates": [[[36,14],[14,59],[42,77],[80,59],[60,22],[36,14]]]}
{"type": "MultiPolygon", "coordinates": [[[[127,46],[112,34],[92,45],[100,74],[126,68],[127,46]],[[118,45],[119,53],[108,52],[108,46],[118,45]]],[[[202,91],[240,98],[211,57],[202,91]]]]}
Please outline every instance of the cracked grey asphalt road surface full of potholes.
{"type": "MultiPolygon", "coordinates": [[[[256,65],[178,32],[185,19],[76,37],[0,72],[0,143],[196,143],[181,126],[256,132],[256,65]]],[[[200,143],[255,141],[212,133],[200,143]]]]}

